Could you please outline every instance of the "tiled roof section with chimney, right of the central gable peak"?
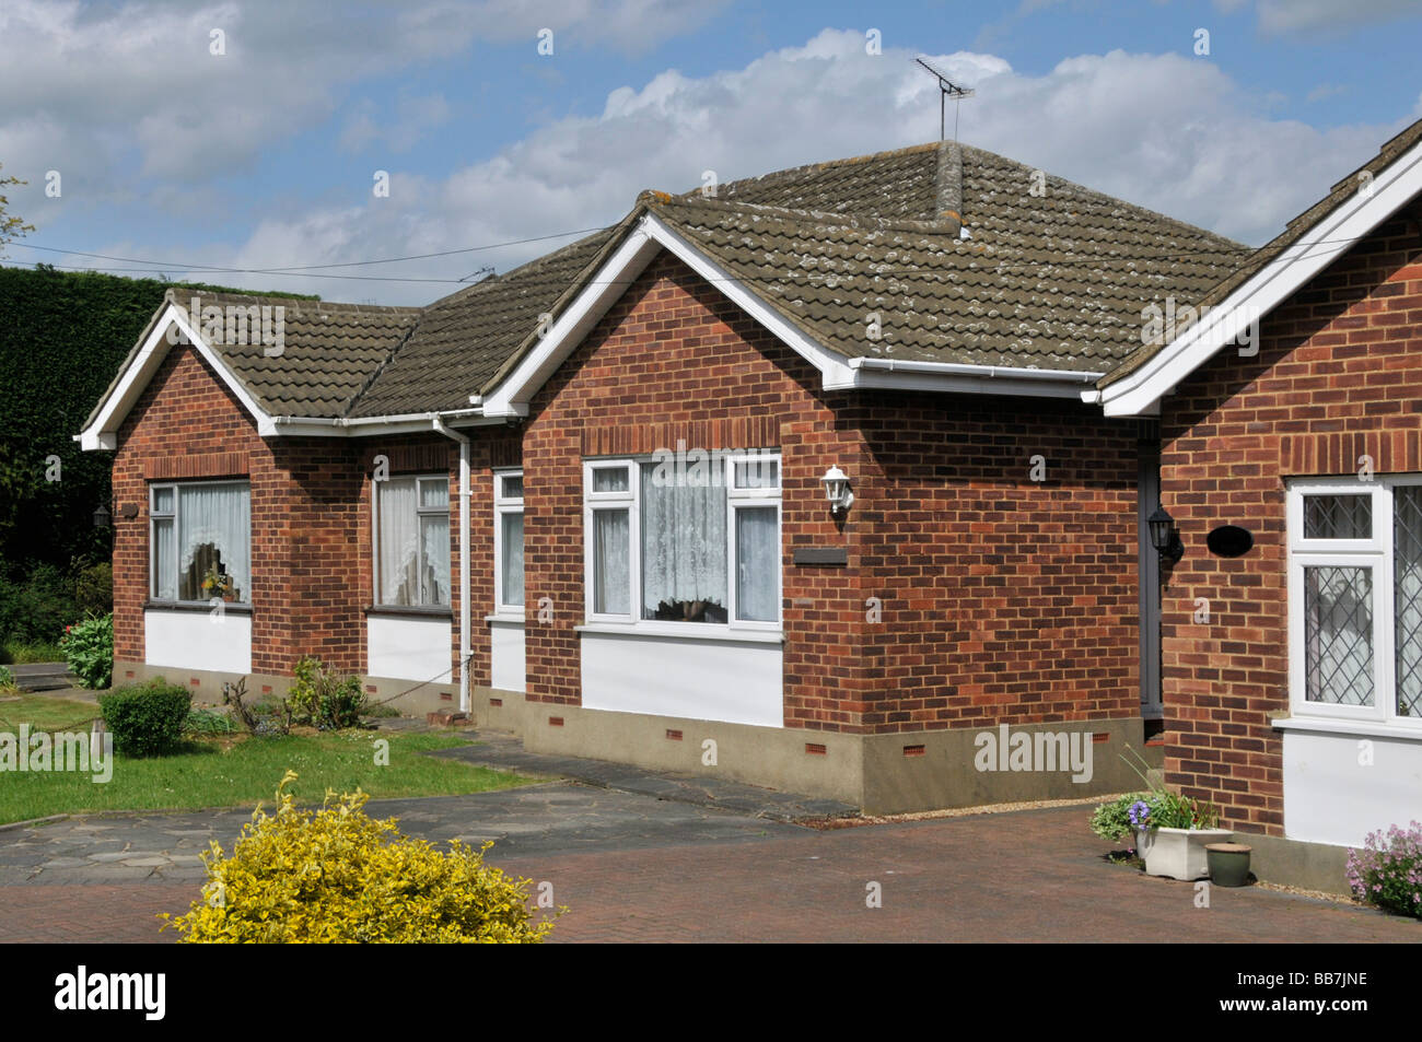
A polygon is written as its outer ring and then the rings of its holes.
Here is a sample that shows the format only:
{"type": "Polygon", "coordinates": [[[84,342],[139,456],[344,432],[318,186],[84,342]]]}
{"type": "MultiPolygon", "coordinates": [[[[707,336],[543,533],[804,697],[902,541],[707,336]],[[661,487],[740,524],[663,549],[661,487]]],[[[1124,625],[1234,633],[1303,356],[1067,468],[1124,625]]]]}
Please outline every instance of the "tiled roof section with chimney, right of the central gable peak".
{"type": "Polygon", "coordinates": [[[1037,175],[1034,195],[1035,173],[991,152],[936,145],[734,182],[714,200],[688,193],[653,209],[849,357],[1109,371],[1140,345],[1148,301],[1199,300],[1246,252],[1061,178],[1037,175]],[[879,168],[896,195],[867,189],[879,168]],[[879,340],[867,335],[870,314],[879,340]]]}

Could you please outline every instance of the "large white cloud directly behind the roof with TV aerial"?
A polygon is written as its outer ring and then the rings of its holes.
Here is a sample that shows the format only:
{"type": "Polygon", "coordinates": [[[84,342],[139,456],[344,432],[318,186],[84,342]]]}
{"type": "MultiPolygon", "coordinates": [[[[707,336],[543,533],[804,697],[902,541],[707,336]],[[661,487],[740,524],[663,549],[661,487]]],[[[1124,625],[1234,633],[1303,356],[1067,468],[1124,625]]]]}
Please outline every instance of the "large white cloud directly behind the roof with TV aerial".
{"type": "MultiPolygon", "coordinates": [[[[1318,131],[1271,119],[1263,100],[1216,63],[1175,54],[1079,55],[1042,75],[1022,75],[991,54],[931,60],[977,88],[961,102],[964,142],[1249,243],[1281,230],[1402,125],[1318,131]]],[[[617,220],[644,188],[695,188],[707,169],[725,182],[937,135],[937,85],[912,51],[872,57],[862,31],[825,30],[744,68],[704,77],[667,70],[619,88],[597,115],[552,121],[444,178],[392,166],[388,199],[294,203],[270,213],[236,260],[216,245],[203,256],[232,266],[316,264],[586,229],[617,220]]],[[[459,279],[483,263],[506,272],[556,245],[351,272],[459,279]]],[[[235,279],[384,303],[428,303],[454,289],[223,277],[235,279]]]]}

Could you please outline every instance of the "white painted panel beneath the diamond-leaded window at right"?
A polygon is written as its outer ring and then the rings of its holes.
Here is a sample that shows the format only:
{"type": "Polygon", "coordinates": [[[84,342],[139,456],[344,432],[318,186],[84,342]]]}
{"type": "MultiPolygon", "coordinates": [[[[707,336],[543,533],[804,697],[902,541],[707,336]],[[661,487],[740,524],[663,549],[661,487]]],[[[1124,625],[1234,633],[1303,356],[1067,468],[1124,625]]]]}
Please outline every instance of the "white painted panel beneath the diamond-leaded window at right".
{"type": "Polygon", "coordinates": [[[1284,834],[1361,847],[1369,832],[1422,820],[1422,741],[1284,732],[1284,834]],[[1359,763],[1359,742],[1372,765],[1359,763]]]}

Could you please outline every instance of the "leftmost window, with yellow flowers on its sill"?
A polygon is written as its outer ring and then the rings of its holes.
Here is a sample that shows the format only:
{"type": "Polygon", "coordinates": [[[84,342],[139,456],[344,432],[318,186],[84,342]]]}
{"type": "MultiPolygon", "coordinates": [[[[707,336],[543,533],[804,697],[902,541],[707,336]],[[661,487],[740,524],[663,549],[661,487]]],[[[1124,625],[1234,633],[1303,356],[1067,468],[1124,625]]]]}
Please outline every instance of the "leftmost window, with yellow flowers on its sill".
{"type": "Polygon", "coordinates": [[[154,601],[173,604],[252,603],[247,482],[149,486],[148,591],[154,601]]]}

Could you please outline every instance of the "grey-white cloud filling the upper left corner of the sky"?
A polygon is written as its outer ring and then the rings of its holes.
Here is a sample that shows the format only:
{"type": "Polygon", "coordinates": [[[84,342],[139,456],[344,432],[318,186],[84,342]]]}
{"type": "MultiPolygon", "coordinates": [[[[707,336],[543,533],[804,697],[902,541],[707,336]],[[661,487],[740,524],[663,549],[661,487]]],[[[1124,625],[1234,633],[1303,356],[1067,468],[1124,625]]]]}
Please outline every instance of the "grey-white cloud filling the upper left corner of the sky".
{"type": "MultiPolygon", "coordinates": [[[[461,54],[476,40],[550,24],[566,47],[636,53],[712,17],[721,0],[570,0],[538,6],[363,0],[4,0],[0,158],[17,172],[60,168],[85,199],[141,176],[201,181],[250,169],[328,121],[360,81],[461,54]],[[516,9],[516,10],[515,10],[516,9]],[[212,31],[225,53],[212,54],[212,31]],[[36,139],[33,128],[47,125],[36,139]]],[[[354,145],[408,149],[448,117],[444,98],[407,102],[391,127],[347,127],[354,145]]],[[[371,118],[371,117],[367,117],[371,118]]]]}

